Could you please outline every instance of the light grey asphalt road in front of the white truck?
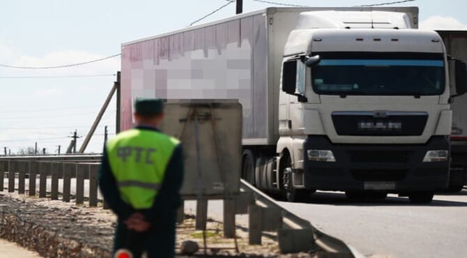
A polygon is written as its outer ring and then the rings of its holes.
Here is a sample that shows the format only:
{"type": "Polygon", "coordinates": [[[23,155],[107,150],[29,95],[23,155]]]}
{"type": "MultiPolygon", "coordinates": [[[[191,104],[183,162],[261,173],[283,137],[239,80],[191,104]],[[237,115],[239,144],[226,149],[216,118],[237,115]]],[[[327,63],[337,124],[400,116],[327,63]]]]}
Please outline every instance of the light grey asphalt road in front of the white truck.
{"type": "Polygon", "coordinates": [[[367,257],[467,257],[467,190],[436,195],[426,205],[397,195],[353,203],[341,192],[316,192],[307,203],[281,204],[367,257]]]}

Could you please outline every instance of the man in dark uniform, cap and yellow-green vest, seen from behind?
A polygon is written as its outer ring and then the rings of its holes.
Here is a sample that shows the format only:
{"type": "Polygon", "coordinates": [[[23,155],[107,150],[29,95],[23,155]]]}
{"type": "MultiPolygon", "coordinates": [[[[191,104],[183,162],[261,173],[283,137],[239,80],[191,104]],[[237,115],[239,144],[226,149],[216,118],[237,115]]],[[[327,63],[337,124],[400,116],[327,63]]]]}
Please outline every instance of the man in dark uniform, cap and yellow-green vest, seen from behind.
{"type": "Polygon", "coordinates": [[[176,209],[181,205],[183,154],[177,139],[158,130],[160,99],[137,98],[137,126],[119,133],[102,155],[99,185],[118,216],[114,252],[174,257],[176,209]],[[130,246],[129,246],[130,245],[130,246]]]}

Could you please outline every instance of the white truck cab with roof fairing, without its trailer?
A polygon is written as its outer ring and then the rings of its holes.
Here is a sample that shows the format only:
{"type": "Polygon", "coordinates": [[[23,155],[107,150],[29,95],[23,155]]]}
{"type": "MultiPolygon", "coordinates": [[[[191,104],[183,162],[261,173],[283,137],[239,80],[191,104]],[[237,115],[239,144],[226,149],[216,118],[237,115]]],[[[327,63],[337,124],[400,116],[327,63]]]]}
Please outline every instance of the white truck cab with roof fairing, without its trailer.
{"type": "Polygon", "coordinates": [[[431,201],[449,181],[448,75],[441,37],[412,29],[405,13],[301,13],[279,100],[289,199],[344,190],[431,201]]]}

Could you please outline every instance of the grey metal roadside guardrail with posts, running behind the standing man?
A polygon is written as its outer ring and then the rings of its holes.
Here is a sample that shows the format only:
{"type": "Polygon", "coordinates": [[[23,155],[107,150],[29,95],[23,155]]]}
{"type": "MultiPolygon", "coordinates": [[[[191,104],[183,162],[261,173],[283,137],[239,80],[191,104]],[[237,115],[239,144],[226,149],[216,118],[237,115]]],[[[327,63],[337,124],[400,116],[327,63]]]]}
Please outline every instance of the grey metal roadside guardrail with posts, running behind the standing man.
{"type": "MultiPolygon", "coordinates": [[[[47,178],[51,179],[51,199],[59,199],[59,179],[63,179],[62,201],[70,202],[71,179],[76,179],[75,202],[84,202],[84,180],[89,179],[89,206],[98,204],[98,167],[102,155],[49,155],[0,158],[0,191],[8,172],[8,192],[25,193],[26,176],[29,177],[28,195],[36,195],[39,176],[39,197],[46,197],[47,178]]],[[[197,200],[197,228],[206,228],[207,199],[197,200]]],[[[183,214],[183,213],[182,213],[183,214]]],[[[224,199],[224,236],[234,238],[236,214],[249,215],[249,242],[261,244],[263,231],[277,232],[279,248],[283,253],[316,250],[324,257],[355,257],[351,248],[337,238],[324,234],[312,224],[291,213],[275,199],[240,179],[240,194],[224,199]]],[[[179,216],[183,218],[183,216],[179,216]]]]}

